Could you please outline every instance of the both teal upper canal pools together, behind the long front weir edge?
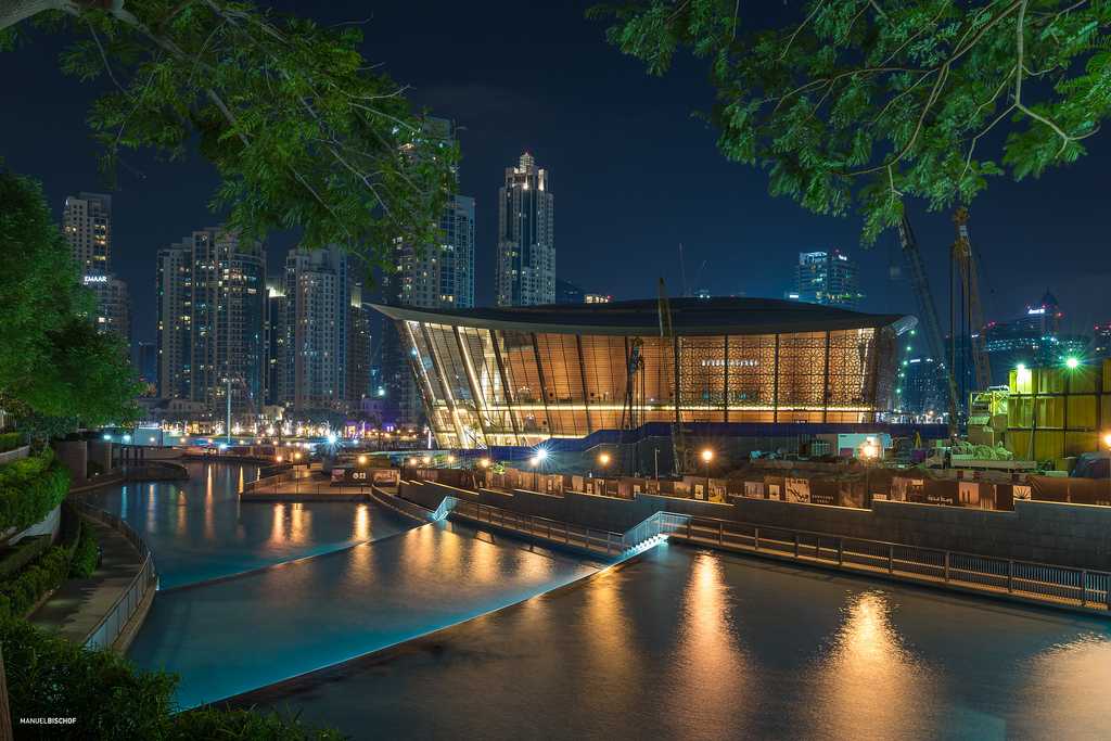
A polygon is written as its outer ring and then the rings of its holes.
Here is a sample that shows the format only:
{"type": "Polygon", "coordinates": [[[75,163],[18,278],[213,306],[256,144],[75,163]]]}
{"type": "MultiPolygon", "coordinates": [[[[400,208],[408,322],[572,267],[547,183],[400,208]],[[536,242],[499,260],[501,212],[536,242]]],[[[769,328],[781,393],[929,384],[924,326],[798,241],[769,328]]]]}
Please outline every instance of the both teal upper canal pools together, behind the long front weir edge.
{"type": "Polygon", "coordinates": [[[162,591],[128,657],[177,672],[183,708],[422,635],[599,568],[449,522],[418,525],[373,503],[240,503],[236,492],[253,469],[192,472],[188,482],[96,499],[154,551],[162,591]]]}

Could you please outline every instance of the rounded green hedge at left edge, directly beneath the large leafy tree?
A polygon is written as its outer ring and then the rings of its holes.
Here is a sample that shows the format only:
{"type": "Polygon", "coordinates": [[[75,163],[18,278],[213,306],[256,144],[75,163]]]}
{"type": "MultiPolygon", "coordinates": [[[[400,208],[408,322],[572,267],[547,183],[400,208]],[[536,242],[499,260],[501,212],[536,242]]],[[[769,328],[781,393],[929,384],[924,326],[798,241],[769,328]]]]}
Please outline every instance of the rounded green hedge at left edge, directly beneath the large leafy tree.
{"type": "Polygon", "coordinates": [[[0,465],[0,531],[42,520],[66,498],[69,484],[69,470],[49,449],[0,465]]]}

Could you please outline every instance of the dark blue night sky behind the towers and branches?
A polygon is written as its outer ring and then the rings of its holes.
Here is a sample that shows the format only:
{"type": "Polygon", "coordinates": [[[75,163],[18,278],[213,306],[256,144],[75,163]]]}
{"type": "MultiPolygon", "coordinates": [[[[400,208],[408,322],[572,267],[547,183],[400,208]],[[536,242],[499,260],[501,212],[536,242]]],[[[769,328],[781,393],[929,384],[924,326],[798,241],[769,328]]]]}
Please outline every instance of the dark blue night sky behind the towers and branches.
{"type": "MultiPolygon", "coordinates": [[[[712,103],[704,66],[680,60],[650,78],[605,44],[590,3],[279,2],[321,22],[362,20],[364,56],[381,62],[411,98],[461,128],[460,192],[477,200],[477,291],[493,300],[497,194],[503,169],[522,151],[548,169],[556,194],[557,274],[615,298],[652,297],[660,276],[681,291],[678,244],[690,290],[782,297],[798,252],[847,250],[861,263],[862,309],[913,312],[893,232],[869,251],[855,218],[820,218],[767,193],[764,176],[727,162],[715,133],[691,117],[712,103]],[[324,3],[320,3],[324,4],[324,3]],[[700,267],[705,263],[704,268],[700,267]]],[[[40,178],[60,218],[64,197],[103,189],[83,119],[100,89],[58,71],[59,39],[2,57],[0,156],[40,178]]],[[[104,82],[107,84],[107,82],[104,82]]],[[[997,179],[971,207],[988,319],[1008,319],[1049,288],[1070,328],[1111,321],[1111,134],[1041,180],[997,179]]],[[[133,338],[154,338],[154,254],[193,229],[218,223],[207,208],[217,182],[203,161],[127,158],[113,193],[113,270],[132,296],[133,338]]],[[[939,309],[948,307],[949,213],[912,210],[939,309]]],[[[280,272],[293,234],[268,242],[280,272]]],[[[905,276],[905,271],[903,271],[905,276]]],[[[947,319],[942,319],[948,323],[947,319]]]]}

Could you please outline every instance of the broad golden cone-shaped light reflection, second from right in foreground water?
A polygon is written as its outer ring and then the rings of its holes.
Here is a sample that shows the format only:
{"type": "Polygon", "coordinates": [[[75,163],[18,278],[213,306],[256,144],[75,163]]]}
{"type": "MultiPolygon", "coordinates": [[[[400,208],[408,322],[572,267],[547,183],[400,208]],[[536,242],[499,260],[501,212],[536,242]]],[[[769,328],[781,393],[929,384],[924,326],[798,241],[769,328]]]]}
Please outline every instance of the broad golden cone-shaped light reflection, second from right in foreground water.
{"type": "Polygon", "coordinates": [[[892,624],[889,599],[845,597],[841,627],[812,670],[814,737],[908,738],[930,727],[937,684],[892,624]]]}

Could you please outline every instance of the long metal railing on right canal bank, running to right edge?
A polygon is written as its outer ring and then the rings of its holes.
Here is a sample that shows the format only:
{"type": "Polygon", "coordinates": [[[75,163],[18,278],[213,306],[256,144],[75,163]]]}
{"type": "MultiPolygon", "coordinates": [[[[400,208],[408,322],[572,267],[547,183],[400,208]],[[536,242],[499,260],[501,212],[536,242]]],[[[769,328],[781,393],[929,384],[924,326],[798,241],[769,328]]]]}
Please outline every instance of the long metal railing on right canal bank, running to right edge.
{"type": "Polygon", "coordinates": [[[809,530],[689,517],[667,534],[692,544],[767,553],[847,571],[889,574],[987,594],[1089,610],[1111,610],[1111,573],[809,530]]]}

